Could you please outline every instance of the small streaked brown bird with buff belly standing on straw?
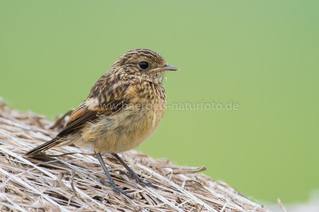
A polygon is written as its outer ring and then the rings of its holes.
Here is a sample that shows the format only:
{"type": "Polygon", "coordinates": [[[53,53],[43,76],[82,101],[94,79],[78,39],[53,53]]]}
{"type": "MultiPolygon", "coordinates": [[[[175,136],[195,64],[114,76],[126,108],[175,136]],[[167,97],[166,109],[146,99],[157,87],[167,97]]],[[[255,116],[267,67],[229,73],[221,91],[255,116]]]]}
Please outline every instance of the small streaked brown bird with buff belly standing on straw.
{"type": "Polygon", "coordinates": [[[131,179],[142,186],[157,186],[143,181],[118,155],[148,139],[157,129],[167,107],[162,85],[167,71],[178,71],[164,58],[146,48],[130,50],[120,56],[111,68],[93,85],[87,99],[71,114],[55,138],[26,152],[36,156],[55,147],[75,145],[94,151],[115,193],[134,197],[118,188],[101,154],[112,154],[131,179]]]}

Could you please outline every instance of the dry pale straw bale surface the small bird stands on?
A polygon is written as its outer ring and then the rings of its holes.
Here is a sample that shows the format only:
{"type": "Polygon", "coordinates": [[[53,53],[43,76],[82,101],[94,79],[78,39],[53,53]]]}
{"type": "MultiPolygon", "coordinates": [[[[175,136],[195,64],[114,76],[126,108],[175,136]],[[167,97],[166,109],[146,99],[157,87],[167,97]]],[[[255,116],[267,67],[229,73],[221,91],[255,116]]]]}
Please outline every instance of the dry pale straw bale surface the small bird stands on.
{"type": "MultiPolygon", "coordinates": [[[[63,119],[61,119],[63,120],[63,119]]],[[[77,147],[55,147],[41,158],[23,154],[53,138],[61,127],[44,116],[26,114],[0,104],[1,211],[269,211],[241,193],[204,174],[205,167],[172,165],[130,151],[123,160],[160,189],[144,188],[126,175],[110,154],[104,161],[117,185],[136,200],[115,194],[96,178],[105,174],[92,152],[77,147]],[[51,127],[51,128],[50,128],[51,127]],[[56,154],[68,154],[55,157],[56,154]]]]}

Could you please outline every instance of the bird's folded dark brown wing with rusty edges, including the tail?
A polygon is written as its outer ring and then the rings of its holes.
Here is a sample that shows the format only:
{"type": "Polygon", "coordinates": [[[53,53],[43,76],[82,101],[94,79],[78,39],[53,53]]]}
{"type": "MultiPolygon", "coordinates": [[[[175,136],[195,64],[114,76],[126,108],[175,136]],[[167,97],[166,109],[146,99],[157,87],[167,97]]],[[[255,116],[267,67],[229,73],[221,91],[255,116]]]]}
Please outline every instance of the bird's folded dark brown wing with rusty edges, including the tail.
{"type": "Polygon", "coordinates": [[[108,72],[93,85],[88,98],[72,113],[65,127],[52,140],[33,148],[25,155],[33,155],[60,144],[63,138],[79,132],[87,123],[94,122],[102,116],[110,116],[121,110],[130,101],[125,91],[130,82],[120,82],[111,78],[108,72]]]}

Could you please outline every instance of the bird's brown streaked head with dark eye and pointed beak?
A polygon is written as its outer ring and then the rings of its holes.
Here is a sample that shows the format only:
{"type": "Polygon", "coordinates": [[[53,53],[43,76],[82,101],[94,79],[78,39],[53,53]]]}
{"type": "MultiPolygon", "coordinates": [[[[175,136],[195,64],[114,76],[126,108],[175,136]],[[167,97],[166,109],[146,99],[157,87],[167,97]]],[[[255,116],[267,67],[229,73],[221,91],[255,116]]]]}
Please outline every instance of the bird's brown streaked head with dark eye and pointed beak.
{"type": "Polygon", "coordinates": [[[153,83],[160,83],[164,72],[179,70],[168,65],[159,53],[144,48],[126,52],[116,60],[111,69],[122,79],[136,78],[153,83]]]}

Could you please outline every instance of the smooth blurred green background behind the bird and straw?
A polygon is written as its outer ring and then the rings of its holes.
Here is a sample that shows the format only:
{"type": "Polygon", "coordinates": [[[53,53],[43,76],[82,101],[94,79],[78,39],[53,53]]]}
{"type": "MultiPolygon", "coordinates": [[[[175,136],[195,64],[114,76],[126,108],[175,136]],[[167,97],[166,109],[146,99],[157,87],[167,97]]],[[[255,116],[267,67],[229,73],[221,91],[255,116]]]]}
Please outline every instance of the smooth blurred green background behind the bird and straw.
{"type": "Polygon", "coordinates": [[[120,55],[145,47],[180,68],[141,150],[207,167],[259,201],[319,188],[319,1],[1,1],[0,96],[54,115],[77,107],[120,55]]]}

